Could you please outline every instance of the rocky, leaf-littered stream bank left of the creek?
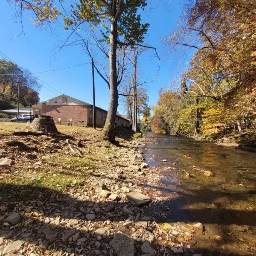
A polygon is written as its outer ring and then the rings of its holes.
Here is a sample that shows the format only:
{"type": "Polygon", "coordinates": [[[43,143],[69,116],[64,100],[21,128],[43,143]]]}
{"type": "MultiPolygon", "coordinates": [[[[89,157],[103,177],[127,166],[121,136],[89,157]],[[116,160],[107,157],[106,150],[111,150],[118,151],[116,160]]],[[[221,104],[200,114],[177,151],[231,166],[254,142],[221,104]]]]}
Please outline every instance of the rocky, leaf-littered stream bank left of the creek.
{"type": "MultiPolygon", "coordinates": [[[[99,137],[1,137],[0,255],[202,256],[204,224],[150,214],[168,198],[158,189],[162,169],[149,169],[138,149],[142,139],[99,137]]],[[[210,239],[221,246],[220,236],[210,239]]]]}

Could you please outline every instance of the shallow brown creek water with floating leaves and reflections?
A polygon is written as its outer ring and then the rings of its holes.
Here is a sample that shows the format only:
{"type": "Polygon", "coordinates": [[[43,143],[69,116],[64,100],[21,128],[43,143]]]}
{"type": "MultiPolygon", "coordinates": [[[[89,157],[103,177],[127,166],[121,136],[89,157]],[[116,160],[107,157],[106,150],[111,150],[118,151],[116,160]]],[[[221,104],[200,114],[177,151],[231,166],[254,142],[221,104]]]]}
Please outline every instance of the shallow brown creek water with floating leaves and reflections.
{"type": "MultiPolygon", "coordinates": [[[[148,184],[164,198],[148,209],[157,221],[201,222],[222,237],[221,250],[256,255],[256,152],[154,133],[141,149],[161,167],[157,186],[148,184]]],[[[205,237],[198,244],[212,247],[205,237]]]]}

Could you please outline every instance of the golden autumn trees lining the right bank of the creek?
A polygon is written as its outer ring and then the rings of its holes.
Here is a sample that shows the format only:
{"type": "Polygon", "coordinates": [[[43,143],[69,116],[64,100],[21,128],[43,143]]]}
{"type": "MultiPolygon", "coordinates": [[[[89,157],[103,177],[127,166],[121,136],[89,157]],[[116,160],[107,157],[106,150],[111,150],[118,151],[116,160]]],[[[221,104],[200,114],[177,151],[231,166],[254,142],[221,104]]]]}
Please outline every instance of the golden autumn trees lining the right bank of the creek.
{"type": "MultiPolygon", "coordinates": [[[[255,129],[255,10],[254,0],[195,0],[186,5],[180,26],[165,39],[172,49],[195,49],[176,84],[177,99],[167,99],[170,105],[186,102],[175,121],[177,133],[217,136],[230,129],[255,129]]],[[[156,119],[160,127],[173,130],[175,111],[166,117],[161,102],[155,108],[162,118],[156,119]]]]}

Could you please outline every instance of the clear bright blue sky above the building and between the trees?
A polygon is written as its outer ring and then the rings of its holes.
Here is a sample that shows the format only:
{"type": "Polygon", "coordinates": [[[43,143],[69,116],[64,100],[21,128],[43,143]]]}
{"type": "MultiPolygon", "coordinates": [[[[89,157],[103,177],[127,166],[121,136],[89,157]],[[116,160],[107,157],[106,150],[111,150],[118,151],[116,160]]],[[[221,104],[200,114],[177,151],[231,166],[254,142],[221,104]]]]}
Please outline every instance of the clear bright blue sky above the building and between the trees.
{"type": "MultiPolygon", "coordinates": [[[[157,3],[157,1],[155,2],[157,3]]],[[[169,82],[180,73],[181,64],[176,55],[167,54],[168,49],[165,49],[160,39],[169,35],[177,26],[182,5],[177,0],[170,1],[168,11],[162,4],[154,9],[156,6],[154,4],[151,5],[153,8],[148,6],[142,12],[142,18],[144,22],[150,24],[145,43],[157,47],[160,56],[160,70],[158,71],[158,60],[152,58],[154,53],[151,51],[146,51],[139,61],[140,75],[143,75],[142,80],[153,81],[147,84],[150,106],[157,103],[158,90],[163,86],[168,86],[169,82]]],[[[32,73],[37,73],[89,63],[66,70],[35,74],[40,79],[39,82],[44,85],[39,92],[41,101],[53,98],[60,92],[92,103],[90,59],[82,52],[81,47],[65,47],[54,55],[61,42],[65,41],[69,35],[69,32],[63,29],[61,21],[50,31],[44,27],[35,27],[29,20],[30,14],[24,13],[25,35],[17,36],[21,32],[21,24],[17,23],[19,18],[15,17],[15,10],[6,1],[0,1],[0,10],[0,23],[4,24],[1,29],[0,51],[19,66],[27,68],[32,73]]],[[[188,59],[183,59],[183,61],[188,61],[188,59]]],[[[96,105],[107,110],[109,89],[97,73],[95,73],[95,87],[96,105]]],[[[118,111],[122,113],[123,107],[121,101],[119,102],[118,111]]]]}

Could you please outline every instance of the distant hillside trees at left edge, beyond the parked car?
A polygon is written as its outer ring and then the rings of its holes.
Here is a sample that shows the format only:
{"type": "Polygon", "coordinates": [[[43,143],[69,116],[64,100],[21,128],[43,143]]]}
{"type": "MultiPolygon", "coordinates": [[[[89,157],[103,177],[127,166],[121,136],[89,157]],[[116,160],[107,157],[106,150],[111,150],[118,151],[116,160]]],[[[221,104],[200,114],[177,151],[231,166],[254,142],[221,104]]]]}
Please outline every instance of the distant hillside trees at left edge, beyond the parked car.
{"type": "Polygon", "coordinates": [[[41,85],[29,70],[21,70],[11,61],[0,60],[0,89],[2,99],[16,99],[20,86],[20,102],[23,106],[39,102],[38,90],[41,85]],[[11,97],[10,96],[16,96],[11,97]]]}

